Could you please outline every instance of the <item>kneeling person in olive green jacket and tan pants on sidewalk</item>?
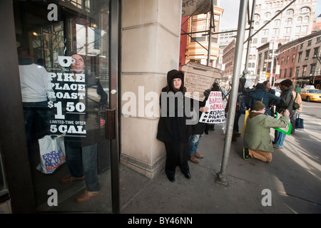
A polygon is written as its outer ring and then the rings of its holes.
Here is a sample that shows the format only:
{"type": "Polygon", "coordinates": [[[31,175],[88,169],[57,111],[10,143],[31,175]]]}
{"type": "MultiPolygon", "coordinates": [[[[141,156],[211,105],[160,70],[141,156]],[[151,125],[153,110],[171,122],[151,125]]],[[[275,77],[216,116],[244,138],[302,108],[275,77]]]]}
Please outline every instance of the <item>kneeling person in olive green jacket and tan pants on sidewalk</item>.
{"type": "Polygon", "coordinates": [[[280,119],[265,115],[265,105],[257,101],[248,117],[243,137],[243,159],[255,157],[263,162],[272,161],[273,145],[270,128],[284,128],[290,123],[290,112],[285,110],[280,119]]]}

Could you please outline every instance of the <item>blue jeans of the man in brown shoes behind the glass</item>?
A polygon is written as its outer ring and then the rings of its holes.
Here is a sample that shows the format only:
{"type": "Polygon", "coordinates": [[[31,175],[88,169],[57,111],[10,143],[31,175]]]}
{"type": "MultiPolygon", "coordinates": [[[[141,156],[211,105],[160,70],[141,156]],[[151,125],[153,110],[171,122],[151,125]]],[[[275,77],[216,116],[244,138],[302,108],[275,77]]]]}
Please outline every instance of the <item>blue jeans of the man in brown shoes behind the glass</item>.
{"type": "Polygon", "coordinates": [[[86,147],[71,147],[67,142],[66,160],[71,176],[83,177],[84,175],[89,192],[101,190],[98,182],[97,153],[97,143],[86,147]]]}

